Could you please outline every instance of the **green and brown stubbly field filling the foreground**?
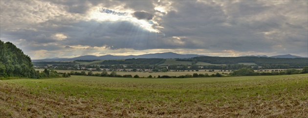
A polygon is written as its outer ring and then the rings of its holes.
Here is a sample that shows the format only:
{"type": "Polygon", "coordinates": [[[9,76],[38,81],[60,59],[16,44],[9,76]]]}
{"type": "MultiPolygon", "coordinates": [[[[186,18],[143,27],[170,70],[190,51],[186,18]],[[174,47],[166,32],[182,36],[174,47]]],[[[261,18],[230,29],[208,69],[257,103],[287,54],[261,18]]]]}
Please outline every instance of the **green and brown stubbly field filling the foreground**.
{"type": "Polygon", "coordinates": [[[4,118],[307,118],[308,74],[1,80],[0,104],[4,118]]]}

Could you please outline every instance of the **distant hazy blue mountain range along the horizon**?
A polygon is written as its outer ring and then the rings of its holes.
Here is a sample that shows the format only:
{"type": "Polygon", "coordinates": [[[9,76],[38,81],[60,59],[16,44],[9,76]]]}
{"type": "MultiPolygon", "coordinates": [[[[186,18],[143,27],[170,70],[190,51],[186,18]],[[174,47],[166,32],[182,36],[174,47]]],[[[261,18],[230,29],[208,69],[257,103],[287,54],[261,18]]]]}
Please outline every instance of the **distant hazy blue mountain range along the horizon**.
{"type": "MultiPolygon", "coordinates": [[[[32,61],[58,61],[58,60],[111,60],[111,59],[138,59],[138,58],[160,58],[160,59],[184,59],[184,58],[194,58],[194,57],[202,57],[204,55],[194,55],[194,54],[176,54],[173,52],[167,53],[154,53],[154,54],[144,54],[144,55],[129,55],[129,56],[113,56],[113,55],[104,55],[104,56],[93,56],[93,55],[86,55],[80,56],[75,58],[47,58],[47,59],[33,59],[32,61]]],[[[278,56],[271,56],[268,57],[266,55],[263,56],[242,56],[242,57],[263,57],[263,58],[303,58],[294,55],[278,55],[278,56]]]]}

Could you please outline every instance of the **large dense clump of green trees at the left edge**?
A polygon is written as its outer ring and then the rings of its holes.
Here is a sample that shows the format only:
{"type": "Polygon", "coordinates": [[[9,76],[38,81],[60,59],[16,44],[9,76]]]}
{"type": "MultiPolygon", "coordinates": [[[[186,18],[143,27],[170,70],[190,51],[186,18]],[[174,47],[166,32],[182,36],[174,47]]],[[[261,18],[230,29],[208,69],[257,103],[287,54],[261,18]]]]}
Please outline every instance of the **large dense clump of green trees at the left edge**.
{"type": "Polygon", "coordinates": [[[0,40],[0,78],[37,78],[29,56],[11,42],[0,40]]]}

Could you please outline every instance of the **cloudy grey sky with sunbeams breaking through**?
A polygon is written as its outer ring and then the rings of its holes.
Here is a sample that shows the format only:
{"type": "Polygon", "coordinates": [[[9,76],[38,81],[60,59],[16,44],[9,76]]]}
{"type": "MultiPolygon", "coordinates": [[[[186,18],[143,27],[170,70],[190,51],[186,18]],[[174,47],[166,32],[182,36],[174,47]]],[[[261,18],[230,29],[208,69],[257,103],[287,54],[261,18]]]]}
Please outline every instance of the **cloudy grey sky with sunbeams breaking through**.
{"type": "Polygon", "coordinates": [[[308,1],[1,0],[0,40],[31,59],[163,52],[308,57],[308,1]]]}

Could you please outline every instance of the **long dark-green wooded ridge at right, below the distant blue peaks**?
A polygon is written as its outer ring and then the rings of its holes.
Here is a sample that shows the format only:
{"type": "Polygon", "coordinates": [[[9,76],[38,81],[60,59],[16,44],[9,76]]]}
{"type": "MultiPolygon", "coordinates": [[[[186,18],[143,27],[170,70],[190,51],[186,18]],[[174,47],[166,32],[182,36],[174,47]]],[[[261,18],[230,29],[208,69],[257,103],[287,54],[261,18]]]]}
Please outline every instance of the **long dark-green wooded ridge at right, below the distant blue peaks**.
{"type": "Polygon", "coordinates": [[[212,64],[238,64],[241,62],[262,64],[288,64],[290,66],[307,66],[307,58],[258,58],[258,57],[195,57],[192,59],[177,59],[179,61],[201,61],[212,64]]]}

